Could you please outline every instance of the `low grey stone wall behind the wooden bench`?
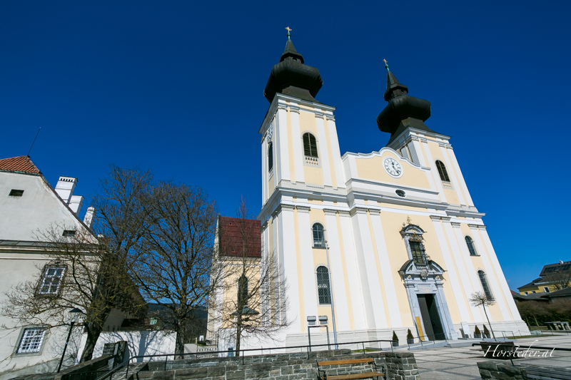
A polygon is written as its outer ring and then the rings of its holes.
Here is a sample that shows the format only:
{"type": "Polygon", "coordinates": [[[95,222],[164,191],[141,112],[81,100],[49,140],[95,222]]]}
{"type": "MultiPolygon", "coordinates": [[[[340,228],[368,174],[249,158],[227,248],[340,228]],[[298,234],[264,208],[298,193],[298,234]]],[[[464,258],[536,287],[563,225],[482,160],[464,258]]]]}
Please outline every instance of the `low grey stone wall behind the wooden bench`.
{"type": "MultiPolygon", "coordinates": [[[[315,380],[317,360],[373,358],[380,368],[387,368],[387,379],[419,380],[418,367],[410,352],[368,352],[351,354],[348,349],[295,354],[271,354],[213,359],[151,361],[148,370],[136,375],[139,380],[315,380]]],[[[374,369],[369,364],[326,366],[329,376],[353,374],[374,369]]],[[[381,370],[382,371],[382,370],[381,370]]]]}

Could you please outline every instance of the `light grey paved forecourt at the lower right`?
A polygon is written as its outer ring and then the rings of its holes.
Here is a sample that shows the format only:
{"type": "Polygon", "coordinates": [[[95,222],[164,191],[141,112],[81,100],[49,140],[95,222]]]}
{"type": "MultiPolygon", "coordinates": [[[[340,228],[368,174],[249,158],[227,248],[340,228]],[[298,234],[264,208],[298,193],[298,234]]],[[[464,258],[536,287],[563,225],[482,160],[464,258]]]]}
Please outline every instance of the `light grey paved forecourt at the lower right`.
{"type": "MultiPolygon", "coordinates": [[[[539,337],[517,339],[521,349],[533,346],[562,347],[571,349],[571,335],[567,337],[539,337]],[[537,342],[534,342],[537,341],[537,342]]],[[[413,351],[418,363],[421,380],[481,379],[478,361],[488,361],[476,347],[442,347],[413,351]]],[[[508,361],[509,362],[509,361],[508,361]]],[[[554,351],[551,357],[517,359],[514,363],[529,363],[547,366],[569,366],[571,351],[554,351]]]]}

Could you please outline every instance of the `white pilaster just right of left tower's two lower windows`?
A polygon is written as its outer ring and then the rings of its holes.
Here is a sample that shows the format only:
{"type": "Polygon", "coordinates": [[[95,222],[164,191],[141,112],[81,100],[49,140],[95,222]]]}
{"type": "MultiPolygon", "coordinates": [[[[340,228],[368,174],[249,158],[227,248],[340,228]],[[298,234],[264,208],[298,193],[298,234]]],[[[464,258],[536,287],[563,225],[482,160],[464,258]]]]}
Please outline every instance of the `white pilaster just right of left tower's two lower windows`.
{"type": "Polygon", "coordinates": [[[335,210],[323,211],[325,212],[325,224],[327,225],[325,239],[328,242],[329,274],[335,300],[335,323],[337,324],[337,329],[349,330],[349,309],[347,306],[347,294],[345,294],[345,279],[343,278],[343,260],[341,260],[337,217],[335,216],[335,210]]]}

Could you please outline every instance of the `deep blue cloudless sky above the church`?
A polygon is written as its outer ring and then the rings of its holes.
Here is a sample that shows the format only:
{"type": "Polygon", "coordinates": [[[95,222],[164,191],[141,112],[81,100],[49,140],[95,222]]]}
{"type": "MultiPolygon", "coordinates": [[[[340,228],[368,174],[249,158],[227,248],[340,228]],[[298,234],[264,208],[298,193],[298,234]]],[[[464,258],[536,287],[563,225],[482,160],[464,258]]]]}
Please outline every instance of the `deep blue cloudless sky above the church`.
{"type": "MultiPolygon", "coordinates": [[[[382,148],[386,58],[452,136],[512,289],[571,260],[570,1],[1,1],[0,157],[88,197],[109,163],[261,206],[262,92],[285,46],[324,80],[341,153],[382,148]]],[[[84,205],[84,210],[86,206],[84,205]]]]}

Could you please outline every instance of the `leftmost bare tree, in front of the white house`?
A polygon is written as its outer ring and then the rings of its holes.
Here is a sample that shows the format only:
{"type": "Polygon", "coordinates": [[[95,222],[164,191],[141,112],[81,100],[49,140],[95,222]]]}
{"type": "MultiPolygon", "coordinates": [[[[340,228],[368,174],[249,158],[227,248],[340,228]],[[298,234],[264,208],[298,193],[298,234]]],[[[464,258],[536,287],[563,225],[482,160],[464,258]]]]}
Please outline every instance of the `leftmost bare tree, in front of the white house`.
{"type": "Polygon", "coordinates": [[[129,279],[128,253],[145,230],[141,194],[150,182],[150,173],[111,166],[109,178],[101,180],[94,196],[97,212],[92,231],[83,225],[54,224],[36,233],[51,260],[46,270],[59,270],[61,277],[46,283],[44,268],[38,268],[36,279],[21,282],[6,293],[0,313],[10,317],[15,328],[61,327],[69,325],[70,309],[81,309],[84,317],[79,325],[87,334],[81,361],[91,359],[111,309],[136,314],[143,306],[129,279]],[[62,236],[64,230],[75,230],[75,234],[62,236]]]}

